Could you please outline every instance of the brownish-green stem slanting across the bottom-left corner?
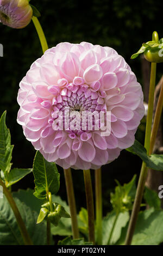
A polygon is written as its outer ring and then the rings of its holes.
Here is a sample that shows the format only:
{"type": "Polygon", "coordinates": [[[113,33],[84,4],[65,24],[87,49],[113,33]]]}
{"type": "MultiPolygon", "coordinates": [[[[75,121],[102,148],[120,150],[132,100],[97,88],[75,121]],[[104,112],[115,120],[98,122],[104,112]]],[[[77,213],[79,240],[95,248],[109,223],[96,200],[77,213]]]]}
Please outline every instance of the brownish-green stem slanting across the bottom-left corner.
{"type": "Polygon", "coordinates": [[[20,212],[18,211],[18,208],[17,208],[16,203],[12,197],[11,192],[8,190],[8,188],[5,186],[4,182],[1,179],[0,179],[0,185],[3,187],[3,192],[5,194],[5,197],[8,199],[11,209],[14,212],[18,228],[20,229],[20,233],[21,233],[23,241],[24,241],[24,245],[33,245],[32,240],[30,239],[30,236],[26,229],[26,225],[23,222],[22,216],[21,216],[20,212]]]}

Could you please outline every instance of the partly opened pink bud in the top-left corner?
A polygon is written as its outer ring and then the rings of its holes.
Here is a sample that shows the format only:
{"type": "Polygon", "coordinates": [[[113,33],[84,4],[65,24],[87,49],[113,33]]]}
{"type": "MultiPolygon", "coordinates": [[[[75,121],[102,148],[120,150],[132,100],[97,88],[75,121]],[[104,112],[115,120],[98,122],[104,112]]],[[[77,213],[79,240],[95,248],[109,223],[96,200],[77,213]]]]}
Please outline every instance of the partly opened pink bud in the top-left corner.
{"type": "Polygon", "coordinates": [[[28,0],[0,0],[0,21],[11,28],[24,28],[32,19],[28,0]]]}

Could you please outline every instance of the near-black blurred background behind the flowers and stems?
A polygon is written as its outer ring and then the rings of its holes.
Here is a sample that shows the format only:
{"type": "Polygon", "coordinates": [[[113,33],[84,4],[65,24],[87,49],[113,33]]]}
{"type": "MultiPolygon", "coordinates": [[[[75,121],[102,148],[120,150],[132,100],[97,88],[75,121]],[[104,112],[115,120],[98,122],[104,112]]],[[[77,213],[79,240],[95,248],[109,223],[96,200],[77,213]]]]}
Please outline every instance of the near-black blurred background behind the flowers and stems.
{"type": "MultiPolygon", "coordinates": [[[[152,32],[157,31],[163,37],[162,1],[109,1],[109,0],[31,0],[41,13],[39,21],[45,32],[48,46],[68,41],[79,43],[88,41],[92,44],[110,46],[121,54],[135,72],[142,84],[140,57],[130,60],[131,54],[141,47],[143,42],[152,40],[152,32]]],[[[22,127],[17,124],[18,104],[16,101],[18,84],[30,68],[30,65],[42,55],[41,46],[33,23],[24,29],[12,29],[0,24],[0,43],[4,47],[4,57],[0,58],[1,87],[0,114],[7,110],[7,126],[14,144],[13,167],[32,167],[35,150],[23,135],[22,127]]],[[[162,64],[158,65],[156,81],[162,75],[162,64]]],[[[143,143],[144,126],[139,128],[136,138],[143,143]]],[[[139,157],[123,150],[114,162],[102,167],[102,186],[104,214],[110,209],[110,191],[114,190],[115,179],[121,184],[128,182],[141,167],[139,157]]],[[[66,200],[65,181],[61,168],[59,194],[66,200]]],[[[86,207],[82,170],[73,170],[74,190],[77,208],[86,207]]],[[[92,182],[94,177],[92,171],[92,182]]],[[[34,188],[33,174],[12,187],[34,188]]]]}

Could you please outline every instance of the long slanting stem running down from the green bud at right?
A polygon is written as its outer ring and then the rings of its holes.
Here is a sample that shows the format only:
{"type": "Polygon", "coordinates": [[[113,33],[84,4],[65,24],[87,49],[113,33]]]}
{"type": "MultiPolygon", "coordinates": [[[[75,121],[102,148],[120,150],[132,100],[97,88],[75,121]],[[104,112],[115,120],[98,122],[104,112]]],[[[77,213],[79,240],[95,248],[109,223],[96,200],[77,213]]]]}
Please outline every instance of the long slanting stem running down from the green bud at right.
{"type": "MultiPolygon", "coordinates": [[[[156,76],[156,63],[152,62],[151,63],[151,79],[150,79],[150,85],[149,85],[149,101],[148,101],[148,114],[147,114],[147,123],[146,123],[146,135],[145,135],[145,148],[147,150],[148,155],[149,155],[149,149],[150,149],[150,138],[151,138],[151,130],[152,130],[155,76],[156,76]]],[[[129,227],[127,230],[127,236],[126,236],[126,242],[125,242],[126,245],[131,244],[131,241],[134,235],[137,216],[139,214],[140,204],[142,201],[143,191],[145,188],[147,170],[148,168],[146,167],[146,163],[143,162],[141,167],[139,182],[136,190],[133,211],[131,213],[129,227]]]]}

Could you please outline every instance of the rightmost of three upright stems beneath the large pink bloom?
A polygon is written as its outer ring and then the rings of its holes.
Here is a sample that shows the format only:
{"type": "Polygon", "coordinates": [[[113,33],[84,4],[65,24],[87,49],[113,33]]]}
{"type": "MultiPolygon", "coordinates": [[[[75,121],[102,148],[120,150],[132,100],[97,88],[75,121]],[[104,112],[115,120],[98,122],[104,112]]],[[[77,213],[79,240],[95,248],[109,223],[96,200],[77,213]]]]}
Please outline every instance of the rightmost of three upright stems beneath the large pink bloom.
{"type": "Polygon", "coordinates": [[[101,169],[95,170],[95,189],[96,189],[97,245],[102,245],[102,179],[101,179],[101,169]]]}

